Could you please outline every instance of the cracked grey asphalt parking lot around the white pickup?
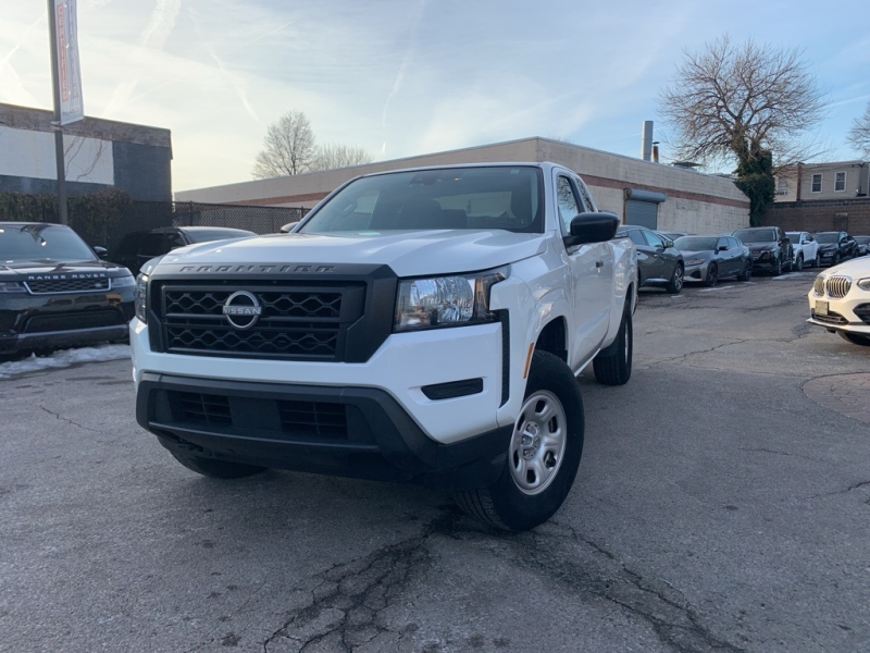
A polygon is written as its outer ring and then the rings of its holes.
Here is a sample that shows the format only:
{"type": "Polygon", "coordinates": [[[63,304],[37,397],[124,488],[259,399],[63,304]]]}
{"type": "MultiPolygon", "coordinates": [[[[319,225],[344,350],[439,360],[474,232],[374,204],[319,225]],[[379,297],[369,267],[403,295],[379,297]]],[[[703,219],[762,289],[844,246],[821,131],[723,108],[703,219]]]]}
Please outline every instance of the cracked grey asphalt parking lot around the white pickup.
{"type": "Polygon", "coordinates": [[[0,381],[0,651],[868,651],[870,348],[815,271],[644,291],[562,509],[177,465],[129,364],[0,381]],[[846,390],[843,390],[846,389],[846,390]]]}

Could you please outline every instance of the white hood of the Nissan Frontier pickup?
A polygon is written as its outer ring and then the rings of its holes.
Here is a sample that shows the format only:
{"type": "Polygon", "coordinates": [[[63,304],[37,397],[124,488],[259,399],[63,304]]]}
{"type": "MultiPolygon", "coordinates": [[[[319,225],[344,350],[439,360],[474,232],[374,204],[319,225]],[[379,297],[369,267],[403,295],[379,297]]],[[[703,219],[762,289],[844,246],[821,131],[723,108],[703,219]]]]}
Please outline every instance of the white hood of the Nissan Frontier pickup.
{"type": "Polygon", "coordinates": [[[395,231],[386,234],[271,234],[175,249],[160,264],[369,263],[399,276],[473,272],[515,262],[546,249],[546,234],[502,230],[395,231]]]}

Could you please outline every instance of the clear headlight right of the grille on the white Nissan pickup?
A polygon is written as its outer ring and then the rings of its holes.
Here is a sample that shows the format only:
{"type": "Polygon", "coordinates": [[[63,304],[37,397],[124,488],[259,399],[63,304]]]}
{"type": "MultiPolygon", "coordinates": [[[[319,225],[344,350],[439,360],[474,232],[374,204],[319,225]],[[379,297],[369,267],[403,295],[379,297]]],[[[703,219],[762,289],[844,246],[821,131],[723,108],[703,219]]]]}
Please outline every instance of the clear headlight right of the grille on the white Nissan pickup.
{"type": "Polygon", "coordinates": [[[508,267],[474,274],[403,279],[396,296],[393,331],[495,322],[489,288],[510,275],[508,267]]]}

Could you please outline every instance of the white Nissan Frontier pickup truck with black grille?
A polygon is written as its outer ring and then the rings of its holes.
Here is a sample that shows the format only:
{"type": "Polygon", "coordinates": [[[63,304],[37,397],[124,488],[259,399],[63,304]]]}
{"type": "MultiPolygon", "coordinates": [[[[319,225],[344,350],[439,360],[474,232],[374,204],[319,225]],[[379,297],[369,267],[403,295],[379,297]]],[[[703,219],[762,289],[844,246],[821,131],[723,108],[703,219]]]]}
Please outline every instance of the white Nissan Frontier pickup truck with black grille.
{"type": "Polygon", "coordinates": [[[487,163],[358,177],[293,233],[172,251],[137,280],[137,420],[206,476],[423,482],[532,528],[580,465],[575,375],[631,375],[617,223],[566,168],[487,163]]]}

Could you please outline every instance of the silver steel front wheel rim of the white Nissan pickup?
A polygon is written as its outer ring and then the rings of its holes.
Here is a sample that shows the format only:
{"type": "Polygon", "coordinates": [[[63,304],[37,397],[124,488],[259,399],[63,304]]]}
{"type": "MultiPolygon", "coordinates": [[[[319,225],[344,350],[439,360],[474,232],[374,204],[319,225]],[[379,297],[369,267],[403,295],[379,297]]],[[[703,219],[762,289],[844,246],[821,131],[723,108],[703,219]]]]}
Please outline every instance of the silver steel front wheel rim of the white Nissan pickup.
{"type": "Polygon", "coordinates": [[[562,403],[551,392],[540,390],[525,401],[508,452],[511,477],[520,492],[539,494],[552,483],[562,466],[567,428],[562,403]]]}

